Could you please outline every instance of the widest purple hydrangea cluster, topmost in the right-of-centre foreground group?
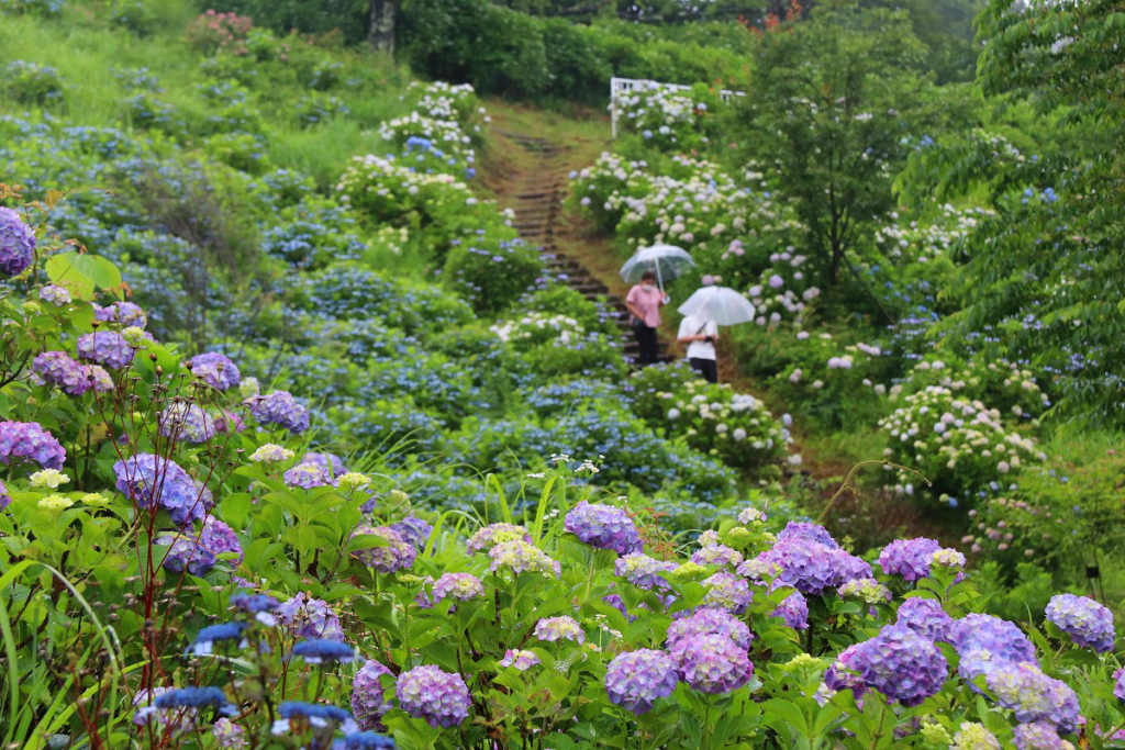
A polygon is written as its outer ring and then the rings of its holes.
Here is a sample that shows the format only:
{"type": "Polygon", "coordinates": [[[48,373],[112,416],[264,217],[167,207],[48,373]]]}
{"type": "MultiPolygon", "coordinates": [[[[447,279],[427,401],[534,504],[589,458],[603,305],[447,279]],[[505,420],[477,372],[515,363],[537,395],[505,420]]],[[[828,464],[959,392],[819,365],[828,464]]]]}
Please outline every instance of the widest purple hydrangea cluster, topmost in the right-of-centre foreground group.
{"type": "Polygon", "coordinates": [[[802,594],[813,596],[839,588],[849,580],[871,578],[871,566],[835,544],[824,544],[803,535],[790,535],[778,539],[773,548],[744,562],[738,572],[758,577],[762,571],[775,570],[782,581],[802,594]]]}

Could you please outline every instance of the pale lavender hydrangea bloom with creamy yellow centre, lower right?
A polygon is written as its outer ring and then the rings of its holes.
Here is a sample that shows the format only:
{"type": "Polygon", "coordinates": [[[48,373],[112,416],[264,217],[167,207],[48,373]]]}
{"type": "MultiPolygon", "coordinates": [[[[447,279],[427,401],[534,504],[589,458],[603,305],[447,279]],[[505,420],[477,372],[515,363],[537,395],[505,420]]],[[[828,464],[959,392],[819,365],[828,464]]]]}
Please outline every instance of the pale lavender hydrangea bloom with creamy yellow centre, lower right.
{"type": "Polygon", "coordinates": [[[1069,734],[1078,726],[1079,706],[1074,690],[1062,680],[1043,674],[1033,663],[1000,663],[984,675],[988,688],[1018,722],[1051,722],[1069,734]]]}

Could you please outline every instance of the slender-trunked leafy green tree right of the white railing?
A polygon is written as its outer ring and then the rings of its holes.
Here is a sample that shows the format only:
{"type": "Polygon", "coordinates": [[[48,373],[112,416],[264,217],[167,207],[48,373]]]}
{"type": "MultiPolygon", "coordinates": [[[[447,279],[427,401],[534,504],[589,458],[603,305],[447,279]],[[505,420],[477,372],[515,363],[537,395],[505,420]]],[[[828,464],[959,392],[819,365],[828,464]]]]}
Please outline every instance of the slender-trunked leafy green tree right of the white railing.
{"type": "Polygon", "coordinates": [[[763,34],[741,99],[746,141],[794,201],[827,286],[893,206],[891,178],[920,103],[924,54],[904,12],[861,11],[846,0],[763,34]]]}

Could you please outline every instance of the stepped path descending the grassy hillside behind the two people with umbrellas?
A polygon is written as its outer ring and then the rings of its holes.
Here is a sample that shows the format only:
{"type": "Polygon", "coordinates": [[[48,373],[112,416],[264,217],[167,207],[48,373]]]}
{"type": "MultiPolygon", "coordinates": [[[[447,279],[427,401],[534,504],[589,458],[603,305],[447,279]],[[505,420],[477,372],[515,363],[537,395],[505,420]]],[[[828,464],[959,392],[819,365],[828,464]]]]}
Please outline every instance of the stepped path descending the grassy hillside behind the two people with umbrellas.
{"type": "MultiPolygon", "coordinates": [[[[519,186],[514,200],[511,201],[515,211],[513,226],[525,241],[539,246],[547,270],[555,279],[602,307],[618,327],[622,354],[636,367],[640,350],[629,327],[629,310],[624,298],[598,281],[578,259],[558,249],[556,226],[561,218],[562,200],[567,192],[565,148],[546,138],[507,132],[503,135],[513,144],[536,154],[540,162],[539,169],[519,186]]],[[[675,359],[667,353],[663,338],[659,340],[659,347],[662,361],[675,359]]]]}

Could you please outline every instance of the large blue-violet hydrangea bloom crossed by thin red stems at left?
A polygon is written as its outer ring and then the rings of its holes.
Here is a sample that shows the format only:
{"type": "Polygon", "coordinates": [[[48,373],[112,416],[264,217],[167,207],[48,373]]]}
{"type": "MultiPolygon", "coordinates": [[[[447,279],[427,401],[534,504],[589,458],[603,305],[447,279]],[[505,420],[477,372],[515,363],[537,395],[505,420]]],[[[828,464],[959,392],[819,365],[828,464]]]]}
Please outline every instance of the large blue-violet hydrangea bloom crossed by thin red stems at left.
{"type": "Polygon", "coordinates": [[[210,490],[163,457],[138,453],[115,463],[114,473],[118,491],[142,508],[168,510],[180,526],[201,521],[214,505],[210,490]]]}

